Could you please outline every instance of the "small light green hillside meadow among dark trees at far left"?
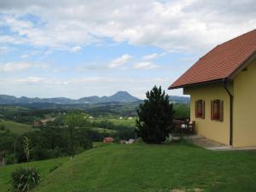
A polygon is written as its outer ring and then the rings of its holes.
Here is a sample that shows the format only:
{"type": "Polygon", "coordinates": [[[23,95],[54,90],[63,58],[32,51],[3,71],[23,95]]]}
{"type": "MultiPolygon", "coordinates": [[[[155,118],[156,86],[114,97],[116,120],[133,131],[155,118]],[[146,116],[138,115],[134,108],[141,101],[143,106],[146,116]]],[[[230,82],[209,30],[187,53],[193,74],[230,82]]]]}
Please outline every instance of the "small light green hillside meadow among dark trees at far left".
{"type": "Polygon", "coordinates": [[[31,125],[20,124],[10,120],[1,120],[0,125],[4,125],[5,128],[16,134],[23,134],[27,131],[32,131],[31,125]]]}

